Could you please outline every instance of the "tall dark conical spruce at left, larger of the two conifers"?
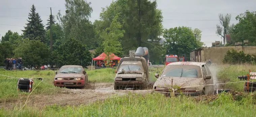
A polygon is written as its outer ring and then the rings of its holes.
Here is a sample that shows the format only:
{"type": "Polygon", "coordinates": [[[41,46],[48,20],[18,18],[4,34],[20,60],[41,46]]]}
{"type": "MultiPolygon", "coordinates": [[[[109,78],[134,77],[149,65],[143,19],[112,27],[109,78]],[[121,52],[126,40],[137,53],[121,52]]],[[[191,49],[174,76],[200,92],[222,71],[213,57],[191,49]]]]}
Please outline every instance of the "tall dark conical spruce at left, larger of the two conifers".
{"type": "Polygon", "coordinates": [[[41,42],[46,43],[45,39],[45,30],[42,23],[42,19],[40,18],[39,14],[35,12],[36,8],[34,4],[31,7],[31,10],[29,13],[29,17],[27,20],[28,23],[27,26],[24,27],[25,30],[23,31],[24,38],[29,38],[30,40],[41,40],[41,42]]]}

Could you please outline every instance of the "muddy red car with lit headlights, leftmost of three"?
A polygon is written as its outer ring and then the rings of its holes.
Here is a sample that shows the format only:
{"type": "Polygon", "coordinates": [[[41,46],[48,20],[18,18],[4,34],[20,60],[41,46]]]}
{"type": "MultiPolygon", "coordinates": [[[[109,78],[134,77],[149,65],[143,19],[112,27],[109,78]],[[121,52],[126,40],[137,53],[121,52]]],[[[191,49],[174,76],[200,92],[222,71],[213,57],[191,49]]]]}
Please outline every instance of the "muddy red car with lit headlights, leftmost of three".
{"type": "Polygon", "coordinates": [[[82,66],[62,66],[55,73],[54,86],[85,87],[88,84],[88,75],[82,66]]]}

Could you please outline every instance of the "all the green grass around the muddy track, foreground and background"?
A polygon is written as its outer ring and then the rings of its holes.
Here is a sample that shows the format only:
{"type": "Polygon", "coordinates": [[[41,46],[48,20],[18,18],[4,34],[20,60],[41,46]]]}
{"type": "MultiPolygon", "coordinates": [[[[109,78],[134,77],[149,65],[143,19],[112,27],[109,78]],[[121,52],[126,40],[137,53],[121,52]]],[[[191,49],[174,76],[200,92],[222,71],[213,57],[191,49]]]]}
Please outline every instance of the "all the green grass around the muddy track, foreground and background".
{"type": "MultiPolygon", "coordinates": [[[[256,71],[254,66],[222,66],[218,67],[218,79],[222,82],[239,81],[237,76],[246,75],[249,69],[256,71]]],[[[154,71],[154,70],[152,70],[154,71]]],[[[159,70],[160,71],[160,70],[159,70]]],[[[89,81],[91,82],[113,82],[115,69],[102,69],[87,71],[89,81]]],[[[150,74],[152,81],[156,80],[155,73],[150,74]]],[[[160,74],[160,73],[159,73],[160,74]]],[[[0,75],[12,77],[46,77],[53,78],[54,71],[0,71],[0,75]]],[[[35,86],[40,81],[35,80],[35,86]]],[[[17,93],[17,79],[0,76],[0,101],[7,101],[19,98],[21,93],[17,93]]],[[[226,84],[225,88],[235,91],[243,90],[243,83],[226,84]]],[[[53,86],[53,79],[43,79],[33,91],[32,95],[47,94],[52,95],[62,91],[63,88],[53,86]]],[[[0,116],[22,116],[22,117],[63,117],[63,116],[253,116],[256,114],[256,94],[252,93],[235,93],[219,94],[202,97],[169,97],[166,98],[161,94],[128,94],[124,96],[114,96],[104,101],[96,101],[90,104],[81,104],[78,106],[60,106],[50,105],[43,108],[25,106],[24,108],[0,109],[0,116]],[[236,94],[236,95],[235,95],[236,94]]],[[[28,93],[26,93],[28,95],[28,93]]],[[[74,97],[75,98],[75,97],[74,97]]]]}

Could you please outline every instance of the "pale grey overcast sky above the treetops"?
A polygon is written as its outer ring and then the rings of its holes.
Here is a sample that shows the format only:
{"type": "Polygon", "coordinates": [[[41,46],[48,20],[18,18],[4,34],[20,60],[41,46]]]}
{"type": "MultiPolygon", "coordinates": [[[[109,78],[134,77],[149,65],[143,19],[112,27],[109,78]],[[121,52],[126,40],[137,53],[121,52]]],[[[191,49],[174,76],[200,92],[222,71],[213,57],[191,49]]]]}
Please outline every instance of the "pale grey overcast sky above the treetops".
{"type": "MultiPolygon", "coordinates": [[[[91,2],[93,13],[91,21],[99,19],[102,7],[110,5],[113,0],[87,0],[91,2]]],[[[28,13],[34,4],[43,23],[50,14],[52,7],[53,15],[58,10],[65,13],[65,0],[0,0],[0,35],[3,36],[8,30],[22,33],[27,23],[28,13]]],[[[231,23],[237,23],[235,16],[246,10],[256,11],[255,0],[157,0],[158,9],[163,12],[164,28],[188,26],[202,30],[201,41],[206,46],[211,46],[214,41],[221,41],[215,33],[216,24],[219,23],[218,14],[230,13],[231,23]]]]}

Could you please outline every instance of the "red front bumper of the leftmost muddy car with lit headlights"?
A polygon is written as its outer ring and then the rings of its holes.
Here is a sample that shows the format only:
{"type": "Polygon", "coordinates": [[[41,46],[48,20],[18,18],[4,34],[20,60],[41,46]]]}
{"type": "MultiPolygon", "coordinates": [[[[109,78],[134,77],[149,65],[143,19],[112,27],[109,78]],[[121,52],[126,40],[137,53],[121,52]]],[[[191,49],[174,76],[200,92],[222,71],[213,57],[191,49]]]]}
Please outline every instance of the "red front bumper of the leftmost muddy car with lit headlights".
{"type": "Polygon", "coordinates": [[[84,87],[85,80],[77,80],[77,81],[66,81],[66,80],[54,80],[54,86],[58,87],[84,87]]]}

